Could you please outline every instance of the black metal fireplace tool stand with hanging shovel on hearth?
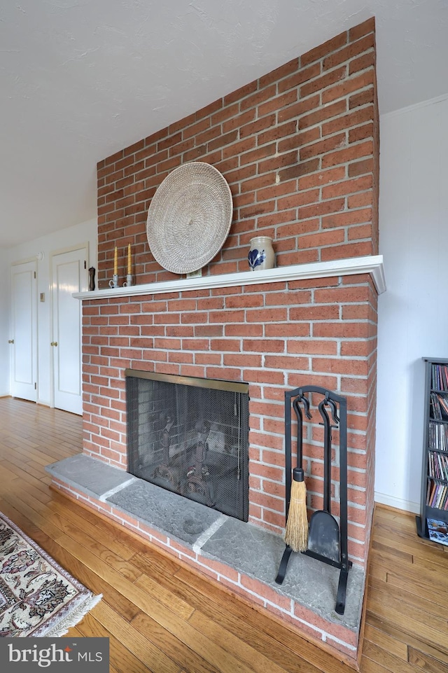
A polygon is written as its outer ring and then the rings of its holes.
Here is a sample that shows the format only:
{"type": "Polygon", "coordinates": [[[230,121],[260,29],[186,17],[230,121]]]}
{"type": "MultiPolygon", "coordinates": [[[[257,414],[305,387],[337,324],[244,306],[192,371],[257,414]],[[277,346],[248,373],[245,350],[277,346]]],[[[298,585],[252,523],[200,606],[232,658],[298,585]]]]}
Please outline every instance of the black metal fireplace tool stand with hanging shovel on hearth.
{"type": "MultiPolygon", "coordinates": [[[[290,506],[292,451],[291,451],[291,407],[297,418],[297,467],[302,467],[303,416],[311,419],[309,398],[307,394],[323,396],[318,405],[324,431],[323,440],[323,510],[316,511],[309,521],[308,548],[301,552],[332,567],[339,568],[339,584],[335,611],[344,614],[346,585],[349,577],[351,561],[347,551],[347,423],[346,398],[318,386],[302,386],[285,394],[285,466],[286,466],[286,520],[290,506]],[[339,412],[338,412],[339,407],[339,412]],[[331,413],[328,415],[328,411],[331,413]],[[331,443],[332,429],[339,429],[339,525],[331,514],[331,443]]],[[[288,562],[293,549],[286,545],[281,558],[276,583],[281,584],[285,578],[288,562]]]]}

